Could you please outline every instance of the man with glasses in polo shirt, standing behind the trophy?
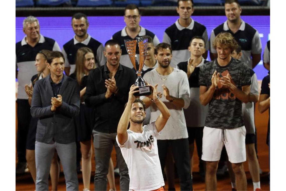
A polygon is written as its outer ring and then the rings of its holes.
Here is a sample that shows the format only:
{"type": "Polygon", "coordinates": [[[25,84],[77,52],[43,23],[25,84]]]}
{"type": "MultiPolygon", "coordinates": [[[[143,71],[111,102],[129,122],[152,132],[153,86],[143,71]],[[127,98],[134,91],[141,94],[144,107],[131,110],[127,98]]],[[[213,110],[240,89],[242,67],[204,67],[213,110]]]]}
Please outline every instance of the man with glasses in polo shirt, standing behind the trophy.
{"type": "MultiPolygon", "coordinates": [[[[124,39],[134,40],[136,37],[148,35],[153,39],[154,46],[157,46],[157,44],[160,43],[158,37],[154,33],[139,25],[140,19],[141,15],[139,8],[134,4],[127,5],[124,11],[124,22],[126,23],[126,27],[124,27],[121,31],[116,32],[111,37],[111,39],[117,40],[120,43],[122,50],[120,63],[129,68],[133,68],[133,65],[125,48],[124,39]]],[[[136,46],[136,55],[137,58],[139,58],[138,46],[136,46]]]]}

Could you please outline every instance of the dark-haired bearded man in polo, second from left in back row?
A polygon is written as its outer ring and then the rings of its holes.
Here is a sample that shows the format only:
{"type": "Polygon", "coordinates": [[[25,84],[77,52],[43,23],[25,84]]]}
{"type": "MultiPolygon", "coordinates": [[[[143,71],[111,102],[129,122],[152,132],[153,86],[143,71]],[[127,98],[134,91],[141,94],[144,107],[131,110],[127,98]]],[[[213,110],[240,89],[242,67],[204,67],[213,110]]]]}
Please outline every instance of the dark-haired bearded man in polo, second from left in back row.
{"type": "Polygon", "coordinates": [[[74,38],[63,45],[63,55],[65,56],[65,73],[74,73],[76,69],[76,52],[79,48],[88,47],[94,53],[97,66],[102,66],[106,62],[103,54],[103,45],[92,38],[88,33],[88,18],[83,13],[76,13],[72,16],[72,28],[74,30],[74,38]]]}

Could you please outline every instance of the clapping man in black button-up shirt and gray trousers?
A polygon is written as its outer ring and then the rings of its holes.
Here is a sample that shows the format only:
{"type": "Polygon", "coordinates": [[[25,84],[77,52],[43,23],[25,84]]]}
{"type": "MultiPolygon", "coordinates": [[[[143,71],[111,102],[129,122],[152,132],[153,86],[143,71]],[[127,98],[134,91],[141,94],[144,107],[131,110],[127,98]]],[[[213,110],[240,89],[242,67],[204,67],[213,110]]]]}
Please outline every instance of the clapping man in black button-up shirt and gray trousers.
{"type": "Polygon", "coordinates": [[[113,145],[120,171],[120,189],[129,189],[128,168],[116,143],[116,135],[117,125],[136,74],[131,68],[119,63],[121,53],[120,44],[116,40],[108,40],[104,47],[106,64],[92,70],[88,75],[85,103],[95,108],[95,125],[92,131],[96,161],[95,190],[106,190],[106,175],[113,145]]]}

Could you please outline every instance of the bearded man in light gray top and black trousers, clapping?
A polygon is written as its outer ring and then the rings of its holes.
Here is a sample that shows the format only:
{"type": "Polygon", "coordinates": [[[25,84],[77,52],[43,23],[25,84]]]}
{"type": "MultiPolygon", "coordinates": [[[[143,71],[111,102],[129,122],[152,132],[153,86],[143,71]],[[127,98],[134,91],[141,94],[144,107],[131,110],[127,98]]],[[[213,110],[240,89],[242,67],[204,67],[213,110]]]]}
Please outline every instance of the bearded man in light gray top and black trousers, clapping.
{"type": "MultiPolygon", "coordinates": [[[[171,114],[162,135],[157,137],[161,169],[164,173],[166,158],[172,157],[168,155],[170,148],[180,178],[180,189],[192,190],[188,132],[183,111],[183,108],[186,109],[190,105],[188,77],[184,71],[170,66],[172,49],[169,44],[158,44],[154,54],[158,67],[147,72],[144,80],[153,85],[158,84],[157,92],[163,92],[164,97],[161,100],[171,114]]],[[[151,107],[150,121],[155,121],[161,112],[155,104],[151,105],[149,98],[144,98],[143,101],[146,107],[151,107]]]]}

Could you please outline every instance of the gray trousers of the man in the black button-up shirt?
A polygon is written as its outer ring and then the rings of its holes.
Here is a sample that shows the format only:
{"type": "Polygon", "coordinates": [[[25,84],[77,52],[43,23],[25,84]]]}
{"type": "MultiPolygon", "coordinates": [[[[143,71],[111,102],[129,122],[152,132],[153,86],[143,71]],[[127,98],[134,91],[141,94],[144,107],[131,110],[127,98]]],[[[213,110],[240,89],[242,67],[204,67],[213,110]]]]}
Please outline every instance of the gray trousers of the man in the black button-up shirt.
{"type": "Polygon", "coordinates": [[[120,174],[120,190],[129,190],[128,168],[116,142],[117,133],[100,133],[92,131],[94,136],[96,170],[94,176],[94,190],[106,190],[109,160],[113,145],[116,150],[117,164],[120,174]]]}

